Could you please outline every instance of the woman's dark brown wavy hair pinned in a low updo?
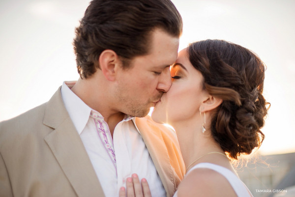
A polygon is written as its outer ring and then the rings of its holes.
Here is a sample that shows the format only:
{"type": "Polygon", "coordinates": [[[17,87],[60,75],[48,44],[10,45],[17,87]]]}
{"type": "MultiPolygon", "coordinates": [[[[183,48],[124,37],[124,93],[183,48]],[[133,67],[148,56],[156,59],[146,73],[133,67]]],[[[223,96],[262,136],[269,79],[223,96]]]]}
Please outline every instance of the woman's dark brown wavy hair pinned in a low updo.
{"type": "Polygon", "coordinates": [[[265,64],[250,50],[224,40],[192,43],[188,56],[208,93],[223,99],[212,116],[213,138],[231,158],[250,154],[265,138],[260,130],[269,108],[262,95],[265,64]]]}

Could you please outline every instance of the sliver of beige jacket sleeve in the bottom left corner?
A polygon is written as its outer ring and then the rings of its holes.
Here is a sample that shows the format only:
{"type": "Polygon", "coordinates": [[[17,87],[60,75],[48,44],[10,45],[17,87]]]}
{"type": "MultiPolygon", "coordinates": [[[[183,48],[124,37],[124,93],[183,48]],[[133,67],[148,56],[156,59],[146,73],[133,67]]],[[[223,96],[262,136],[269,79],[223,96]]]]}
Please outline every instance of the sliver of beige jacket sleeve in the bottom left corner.
{"type": "Polygon", "coordinates": [[[13,197],[8,172],[0,153],[0,197],[13,197]]]}

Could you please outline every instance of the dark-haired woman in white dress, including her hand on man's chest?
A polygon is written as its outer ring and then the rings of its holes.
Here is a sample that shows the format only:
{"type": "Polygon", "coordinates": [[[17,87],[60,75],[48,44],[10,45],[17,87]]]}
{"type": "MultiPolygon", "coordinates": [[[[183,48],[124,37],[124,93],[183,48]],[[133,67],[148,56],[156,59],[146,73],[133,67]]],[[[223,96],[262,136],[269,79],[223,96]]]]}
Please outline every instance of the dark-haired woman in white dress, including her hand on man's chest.
{"type": "MultiPolygon", "coordinates": [[[[154,121],[175,128],[186,166],[174,197],[252,196],[229,159],[250,154],[264,140],[264,72],[258,56],[223,40],[195,42],[179,52],[172,86],[152,113],[154,121]]],[[[133,184],[127,181],[128,196],[150,196],[145,179],[139,187],[134,175],[133,184]]]]}

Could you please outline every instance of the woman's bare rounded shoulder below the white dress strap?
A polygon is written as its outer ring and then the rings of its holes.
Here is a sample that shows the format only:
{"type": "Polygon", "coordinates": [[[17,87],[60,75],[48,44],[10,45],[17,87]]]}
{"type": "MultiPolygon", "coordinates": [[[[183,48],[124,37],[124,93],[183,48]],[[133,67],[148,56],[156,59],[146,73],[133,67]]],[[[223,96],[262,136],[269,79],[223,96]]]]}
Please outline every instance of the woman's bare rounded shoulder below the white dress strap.
{"type": "Polygon", "coordinates": [[[188,173],[180,183],[178,197],[236,197],[228,180],[213,169],[198,168],[188,173]]]}

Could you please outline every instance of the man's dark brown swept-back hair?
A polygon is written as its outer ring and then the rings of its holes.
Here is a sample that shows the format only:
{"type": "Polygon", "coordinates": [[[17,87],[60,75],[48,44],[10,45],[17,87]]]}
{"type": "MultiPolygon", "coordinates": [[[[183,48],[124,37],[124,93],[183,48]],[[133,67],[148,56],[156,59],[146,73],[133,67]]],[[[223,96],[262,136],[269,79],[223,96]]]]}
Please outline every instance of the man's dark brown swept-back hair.
{"type": "Polygon", "coordinates": [[[124,68],[133,57],[147,55],[156,28],[175,37],[182,33],[181,16],[170,0],[92,0],[73,42],[81,78],[95,73],[106,49],[117,53],[124,68]]]}

